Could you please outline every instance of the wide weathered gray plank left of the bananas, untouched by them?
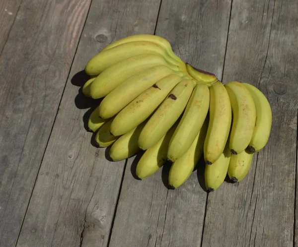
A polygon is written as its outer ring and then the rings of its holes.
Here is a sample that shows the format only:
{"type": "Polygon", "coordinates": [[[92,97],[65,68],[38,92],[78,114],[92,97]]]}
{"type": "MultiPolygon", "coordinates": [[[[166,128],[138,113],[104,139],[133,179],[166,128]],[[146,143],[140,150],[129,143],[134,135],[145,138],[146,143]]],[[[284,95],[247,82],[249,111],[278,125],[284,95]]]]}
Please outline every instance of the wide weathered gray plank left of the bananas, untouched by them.
{"type": "Polygon", "coordinates": [[[88,6],[89,0],[23,0],[2,51],[1,247],[17,242],[88,6]]]}

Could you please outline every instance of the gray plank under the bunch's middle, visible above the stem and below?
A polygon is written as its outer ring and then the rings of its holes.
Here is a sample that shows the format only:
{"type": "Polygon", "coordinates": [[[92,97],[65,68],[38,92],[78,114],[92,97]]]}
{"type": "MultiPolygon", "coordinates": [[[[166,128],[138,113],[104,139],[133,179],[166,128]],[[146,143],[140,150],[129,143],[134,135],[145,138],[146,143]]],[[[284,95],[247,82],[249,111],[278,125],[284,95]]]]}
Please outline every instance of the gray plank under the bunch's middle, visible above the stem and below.
{"type": "MultiPolygon", "coordinates": [[[[185,62],[221,78],[229,11],[230,1],[162,0],[156,34],[167,38],[185,62]]],[[[138,181],[131,164],[129,159],[110,247],[200,246],[207,194],[197,173],[168,190],[161,178],[163,173],[166,180],[166,169],[138,181]]]]}

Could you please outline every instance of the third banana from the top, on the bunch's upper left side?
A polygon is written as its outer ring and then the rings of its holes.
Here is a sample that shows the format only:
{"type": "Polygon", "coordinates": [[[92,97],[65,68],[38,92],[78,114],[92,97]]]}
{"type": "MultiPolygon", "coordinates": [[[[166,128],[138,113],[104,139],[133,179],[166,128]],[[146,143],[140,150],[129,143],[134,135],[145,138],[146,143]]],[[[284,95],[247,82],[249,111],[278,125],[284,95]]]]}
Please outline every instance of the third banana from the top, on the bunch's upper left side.
{"type": "Polygon", "coordinates": [[[133,75],[156,65],[165,65],[178,71],[177,66],[169,65],[159,55],[137,55],[118,62],[99,74],[90,86],[90,95],[93,99],[102,98],[133,75]]]}

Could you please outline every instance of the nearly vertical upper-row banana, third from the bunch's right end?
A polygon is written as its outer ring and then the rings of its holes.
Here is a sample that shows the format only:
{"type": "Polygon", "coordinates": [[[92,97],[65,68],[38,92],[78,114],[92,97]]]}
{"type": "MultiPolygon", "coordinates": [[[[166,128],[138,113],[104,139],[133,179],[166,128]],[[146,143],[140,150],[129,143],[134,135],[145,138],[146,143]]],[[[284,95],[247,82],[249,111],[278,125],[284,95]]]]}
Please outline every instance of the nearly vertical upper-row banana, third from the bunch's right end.
{"type": "Polygon", "coordinates": [[[209,165],[223,153],[231,125],[231,105],[222,82],[210,88],[210,121],[204,143],[204,158],[209,165]]]}

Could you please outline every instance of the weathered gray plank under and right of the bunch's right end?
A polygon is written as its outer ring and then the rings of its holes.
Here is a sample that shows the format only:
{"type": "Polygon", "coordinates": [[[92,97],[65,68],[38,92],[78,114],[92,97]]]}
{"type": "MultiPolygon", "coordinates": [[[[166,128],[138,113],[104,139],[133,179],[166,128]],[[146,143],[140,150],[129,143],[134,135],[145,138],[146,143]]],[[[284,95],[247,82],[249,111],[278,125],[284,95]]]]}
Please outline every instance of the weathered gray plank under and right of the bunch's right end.
{"type": "Polygon", "coordinates": [[[293,246],[297,12],[296,0],[233,0],[224,81],[260,88],[271,104],[273,124],[248,176],[209,194],[203,246],[293,246]]]}

